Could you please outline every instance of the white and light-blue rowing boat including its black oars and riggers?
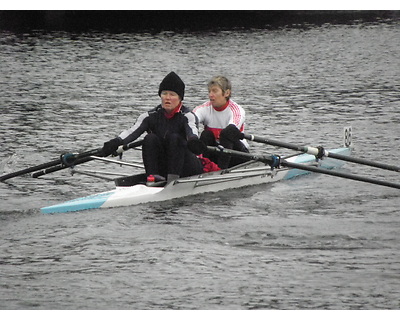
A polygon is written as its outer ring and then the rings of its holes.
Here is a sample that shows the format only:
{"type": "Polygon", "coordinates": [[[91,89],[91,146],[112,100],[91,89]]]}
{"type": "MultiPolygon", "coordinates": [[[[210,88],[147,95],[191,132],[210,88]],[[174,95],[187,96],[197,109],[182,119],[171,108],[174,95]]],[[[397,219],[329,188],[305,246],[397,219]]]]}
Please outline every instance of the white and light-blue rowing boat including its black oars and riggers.
{"type": "MultiPolygon", "coordinates": [[[[160,202],[207,192],[218,192],[221,190],[244,188],[248,186],[288,180],[310,172],[322,173],[344,179],[361,181],[400,190],[400,184],[396,182],[383,181],[369,176],[363,177],[348,172],[332,170],[334,168],[340,168],[345,162],[351,162],[379,169],[400,172],[400,167],[396,165],[350,156],[352,150],[351,137],[351,127],[344,128],[344,147],[326,150],[322,146],[317,148],[301,146],[266,137],[245,134],[244,138],[247,140],[275,147],[287,148],[295,150],[299,153],[282,158],[276,155],[258,156],[246,152],[224,149],[221,146],[208,146],[209,151],[223,152],[229,154],[230,156],[244,158],[249,161],[225,170],[179,178],[166,184],[165,186],[156,186],[155,184],[150,186],[147,185],[147,177],[144,173],[112,179],[110,177],[99,176],[98,172],[81,171],[80,173],[85,173],[89,176],[105,178],[106,180],[114,180],[116,187],[111,191],[97,193],[87,197],[47,206],[41,208],[41,212],[61,213],[87,209],[132,206],[149,202],[160,202]]],[[[121,150],[125,151],[128,149],[137,148],[142,144],[142,142],[143,140],[134,141],[128,145],[120,147],[122,147],[121,150]]],[[[59,159],[4,174],[0,176],[0,181],[5,181],[13,177],[32,172],[33,173],[31,176],[38,178],[42,175],[64,170],[66,168],[70,168],[75,172],[79,172],[78,170],[74,169],[74,167],[77,164],[85,163],[91,160],[117,163],[121,166],[129,165],[141,169],[144,168],[143,164],[140,162],[126,163],[122,161],[116,161],[108,159],[102,154],[102,149],[94,149],[81,153],[62,154],[59,159]]],[[[105,174],[105,172],[100,173],[105,174]]],[[[116,173],[111,172],[107,174],[115,175],[116,173]]]]}

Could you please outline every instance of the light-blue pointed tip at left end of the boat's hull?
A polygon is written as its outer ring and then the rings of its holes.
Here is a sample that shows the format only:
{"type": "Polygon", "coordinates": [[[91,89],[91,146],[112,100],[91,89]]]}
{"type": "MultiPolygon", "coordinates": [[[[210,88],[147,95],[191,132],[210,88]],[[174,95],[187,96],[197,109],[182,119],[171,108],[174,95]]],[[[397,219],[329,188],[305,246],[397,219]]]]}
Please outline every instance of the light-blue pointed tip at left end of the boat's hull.
{"type": "Polygon", "coordinates": [[[41,213],[62,213],[100,208],[115,191],[98,193],[40,209],[41,213]]]}

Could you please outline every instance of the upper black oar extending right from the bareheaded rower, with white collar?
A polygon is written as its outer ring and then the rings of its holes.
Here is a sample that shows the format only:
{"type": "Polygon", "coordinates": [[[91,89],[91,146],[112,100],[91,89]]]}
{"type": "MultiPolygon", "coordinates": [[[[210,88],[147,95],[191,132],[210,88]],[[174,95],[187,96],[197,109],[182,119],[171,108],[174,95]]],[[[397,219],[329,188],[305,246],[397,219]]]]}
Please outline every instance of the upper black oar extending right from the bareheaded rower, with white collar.
{"type": "Polygon", "coordinates": [[[386,169],[386,170],[400,172],[400,167],[398,167],[398,166],[375,162],[375,161],[370,161],[370,160],[366,160],[366,159],[355,158],[355,157],[346,156],[346,155],[337,154],[337,153],[332,153],[332,152],[326,151],[325,149],[323,149],[321,147],[315,148],[315,147],[307,147],[307,146],[298,146],[298,145],[287,143],[287,142],[281,142],[281,141],[276,141],[276,140],[267,139],[267,138],[263,138],[263,137],[257,137],[252,134],[245,134],[244,138],[247,140],[250,140],[250,141],[261,142],[261,143],[269,144],[269,145],[276,146],[276,147],[283,147],[283,148],[287,148],[287,149],[301,151],[304,153],[314,155],[316,157],[325,156],[325,157],[335,158],[335,159],[339,159],[339,160],[343,160],[343,161],[364,164],[367,166],[376,167],[376,168],[380,168],[380,169],[386,169]]]}

